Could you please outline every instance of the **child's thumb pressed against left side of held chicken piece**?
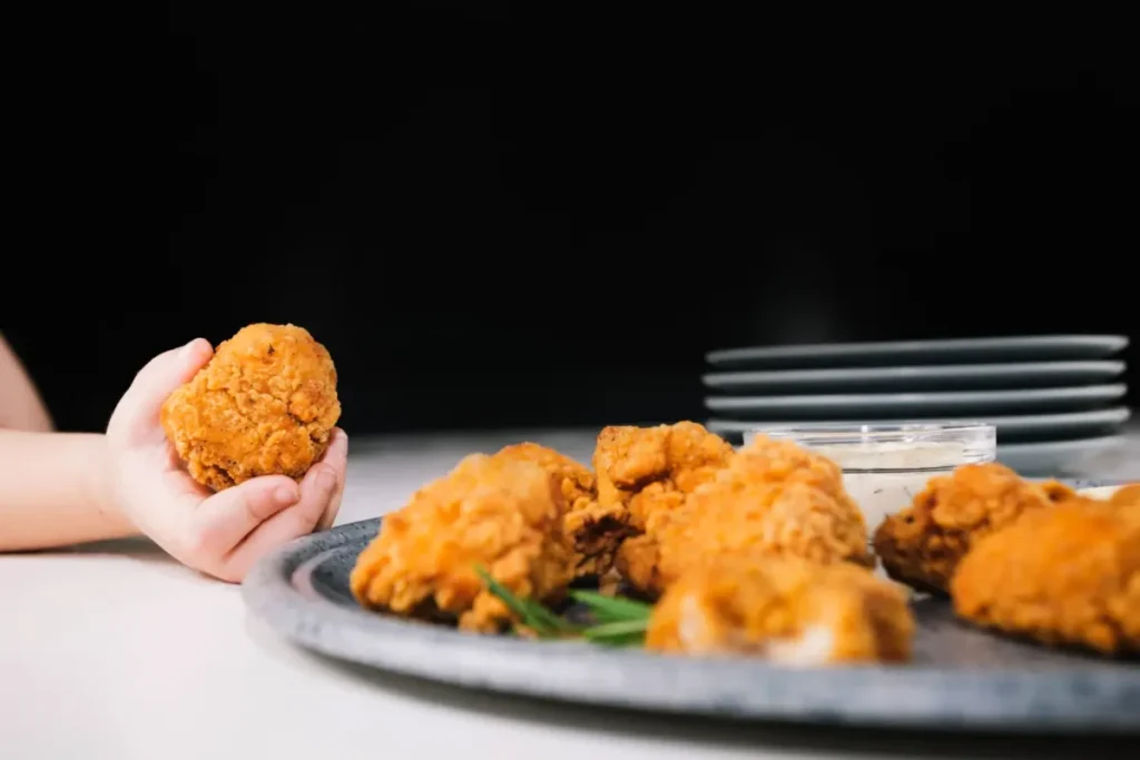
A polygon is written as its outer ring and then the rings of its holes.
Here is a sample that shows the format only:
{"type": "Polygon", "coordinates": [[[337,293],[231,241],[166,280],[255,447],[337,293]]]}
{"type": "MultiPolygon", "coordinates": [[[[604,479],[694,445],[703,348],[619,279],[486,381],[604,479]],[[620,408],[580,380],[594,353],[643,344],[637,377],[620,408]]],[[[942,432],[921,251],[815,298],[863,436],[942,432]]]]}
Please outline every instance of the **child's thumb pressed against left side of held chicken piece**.
{"type": "Polygon", "coordinates": [[[158,412],[163,402],[213,356],[205,338],[195,338],[179,349],[171,349],[147,362],[135,376],[111,416],[107,435],[123,443],[141,443],[161,439],[158,412]]]}

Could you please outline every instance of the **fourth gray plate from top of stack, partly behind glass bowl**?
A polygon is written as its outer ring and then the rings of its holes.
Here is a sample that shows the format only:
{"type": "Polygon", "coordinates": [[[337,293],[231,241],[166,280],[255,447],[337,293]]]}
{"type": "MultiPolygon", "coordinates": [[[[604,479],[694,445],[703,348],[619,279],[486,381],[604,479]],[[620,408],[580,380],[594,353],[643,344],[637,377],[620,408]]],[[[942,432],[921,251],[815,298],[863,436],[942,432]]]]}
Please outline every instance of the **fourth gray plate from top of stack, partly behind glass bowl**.
{"type": "MultiPolygon", "coordinates": [[[[1092,411],[1070,411],[1056,415],[980,415],[971,417],[972,420],[987,423],[997,428],[997,439],[1003,441],[1024,441],[1026,439],[1072,439],[1082,436],[1094,436],[1099,433],[1116,432],[1121,425],[1129,420],[1132,412],[1127,407],[1113,407],[1112,409],[1093,409],[1092,411]]],[[[953,422],[951,418],[936,417],[933,419],[905,418],[905,419],[865,419],[858,420],[866,425],[902,425],[906,423],[945,423],[953,422]]],[[[832,423],[828,422],[799,422],[784,420],[776,425],[780,427],[826,427],[832,423]]],[[[765,427],[768,423],[748,419],[709,419],[706,426],[714,433],[720,435],[747,433],[757,427],[765,427]]]]}

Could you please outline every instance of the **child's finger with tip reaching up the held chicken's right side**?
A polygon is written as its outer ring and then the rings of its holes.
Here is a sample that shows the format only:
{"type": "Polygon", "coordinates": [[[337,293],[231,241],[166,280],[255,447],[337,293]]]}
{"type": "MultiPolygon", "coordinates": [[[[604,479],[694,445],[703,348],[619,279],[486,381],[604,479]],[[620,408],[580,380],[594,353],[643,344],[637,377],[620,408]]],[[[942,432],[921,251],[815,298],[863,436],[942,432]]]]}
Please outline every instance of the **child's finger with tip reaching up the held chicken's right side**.
{"type": "Polygon", "coordinates": [[[319,464],[314,465],[301,481],[301,499],[269,520],[234,549],[226,561],[227,579],[245,578],[250,567],[269,551],[282,544],[301,536],[308,536],[323,520],[336,516],[340,505],[340,492],[344,484],[344,465],[348,453],[348,436],[341,433],[343,440],[334,439],[329,444],[329,453],[319,464]],[[333,444],[336,446],[334,450],[333,444]],[[331,456],[329,456],[331,455],[331,456]]]}

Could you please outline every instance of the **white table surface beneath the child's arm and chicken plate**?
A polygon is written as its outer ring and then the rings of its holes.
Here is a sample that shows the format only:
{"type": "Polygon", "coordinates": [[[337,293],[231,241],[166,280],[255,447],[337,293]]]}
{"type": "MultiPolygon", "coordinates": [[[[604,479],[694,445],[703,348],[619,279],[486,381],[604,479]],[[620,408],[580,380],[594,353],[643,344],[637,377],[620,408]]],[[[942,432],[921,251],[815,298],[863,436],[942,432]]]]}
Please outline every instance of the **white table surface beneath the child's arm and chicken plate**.
{"type": "MultiPolygon", "coordinates": [[[[337,522],[399,507],[464,453],[589,433],[353,441],[337,522]]],[[[1140,438],[1134,438],[1135,453],[1140,438]]],[[[1131,461],[1140,458],[1129,457],[1131,461]]],[[[1121,472],[1121,459],[1106,476],[1121,472]]],[[[488,696],[333,663],[250,619],[237,587],[144,540],[0,557],[0,758],[1097,757],[1088,738],[725,725],[488,696]]]]}

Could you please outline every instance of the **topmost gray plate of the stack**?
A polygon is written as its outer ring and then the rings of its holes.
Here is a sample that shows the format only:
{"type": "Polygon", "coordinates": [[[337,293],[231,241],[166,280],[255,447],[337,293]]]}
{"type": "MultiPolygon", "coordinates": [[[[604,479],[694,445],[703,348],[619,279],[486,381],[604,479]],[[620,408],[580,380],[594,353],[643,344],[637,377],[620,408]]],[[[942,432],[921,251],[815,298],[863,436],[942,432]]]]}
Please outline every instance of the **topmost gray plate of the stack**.
{"type": "Polygon", "coordinates": [[[1129,344],[1124,335],[1025,335],[895,341],[889,343],[824,343],[720,349],[706,354],[717,367],[873,367],[985,361],[1050,361],[1104,359],[1129,344]]]}

